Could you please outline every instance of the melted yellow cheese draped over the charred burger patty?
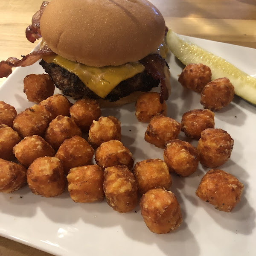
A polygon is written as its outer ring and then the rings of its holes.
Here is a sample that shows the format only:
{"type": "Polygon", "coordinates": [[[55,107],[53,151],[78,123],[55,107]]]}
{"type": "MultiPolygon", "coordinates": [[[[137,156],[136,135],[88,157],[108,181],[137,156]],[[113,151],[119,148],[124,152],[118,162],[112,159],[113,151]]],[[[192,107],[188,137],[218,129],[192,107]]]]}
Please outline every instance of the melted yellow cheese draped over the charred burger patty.
{"type": "MultiPolygon", "coordinates": [[[[157,53],[163,58],[166,57],[168,47],[163,42],[157,49],[157,53]]],[[[94,93],[103,99],[110,93],[121,81],[135,76],[145,70],[140,62],[128,62],[120,66],[90,67],[75,61],[69,61],[59,55],[45,56],[44,61],[55,63],[71,73],[74,73],[79,79],[94,93]]]]}

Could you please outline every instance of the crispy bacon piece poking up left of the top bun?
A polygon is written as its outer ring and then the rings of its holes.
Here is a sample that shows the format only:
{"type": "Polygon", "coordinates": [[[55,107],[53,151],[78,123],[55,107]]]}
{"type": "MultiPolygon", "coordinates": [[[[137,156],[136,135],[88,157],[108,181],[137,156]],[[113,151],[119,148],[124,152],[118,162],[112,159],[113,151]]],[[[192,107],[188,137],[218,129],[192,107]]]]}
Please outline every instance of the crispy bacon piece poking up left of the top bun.
{"type": "Polygon", "coordinates": [[[44,1],[40,7],[40,10],[37,11],[32,17],[32,24],[26,28],[26,38],[29,42],[34,43],[36,39],[41,38],[40,31],[40,20],[44,12],[45,7],[49,2],[44,1]]]}

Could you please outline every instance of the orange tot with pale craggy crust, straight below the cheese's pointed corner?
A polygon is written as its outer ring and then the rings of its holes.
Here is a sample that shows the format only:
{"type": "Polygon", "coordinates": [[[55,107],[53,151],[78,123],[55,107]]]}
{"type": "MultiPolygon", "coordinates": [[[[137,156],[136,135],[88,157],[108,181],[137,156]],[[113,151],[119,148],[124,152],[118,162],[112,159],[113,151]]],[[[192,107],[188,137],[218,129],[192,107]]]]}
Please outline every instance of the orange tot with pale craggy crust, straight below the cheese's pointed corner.
{"type": "Polygon", "coordinates": [[[114,116],[101,116],[90,126],[88,142],[97,148],[109,140],[121,140],[121,123],[114,116]]]}

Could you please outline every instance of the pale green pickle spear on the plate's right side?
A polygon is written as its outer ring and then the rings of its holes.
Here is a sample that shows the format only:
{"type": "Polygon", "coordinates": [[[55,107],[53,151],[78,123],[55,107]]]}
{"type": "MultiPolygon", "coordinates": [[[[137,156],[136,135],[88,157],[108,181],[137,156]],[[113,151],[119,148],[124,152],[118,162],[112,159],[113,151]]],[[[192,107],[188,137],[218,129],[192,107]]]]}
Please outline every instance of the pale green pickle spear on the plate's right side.
{"type": "Polygon", "coordinates": [[[167,45],[171,52],[184,64],[202,63],[210,67],[212,80],[227,77],[235,88],[236,95],[256,104],[256,79],[223,58],[182,39],[178,34],[169,30],[166,35],[167,45]]]}

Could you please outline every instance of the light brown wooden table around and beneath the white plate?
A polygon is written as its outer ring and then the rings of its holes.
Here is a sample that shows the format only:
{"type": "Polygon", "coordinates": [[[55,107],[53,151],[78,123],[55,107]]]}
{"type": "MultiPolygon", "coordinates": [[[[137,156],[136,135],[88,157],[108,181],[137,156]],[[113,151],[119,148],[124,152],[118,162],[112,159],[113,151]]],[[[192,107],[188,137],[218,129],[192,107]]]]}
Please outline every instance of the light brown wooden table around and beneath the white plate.
{"type": "MultiPolygon", "coordinates": [[[[0,60],[20,58],[35,47],[25,29],[41,0],[0,0],[0,60]]],[[[183,35],[256,48],[254,0],[151,0],[166,25],[183,35]]],[[[0,85],[5,78],[0,79],[0,85]]],[[[4,206],[2,206],[4,207],[4,206]]],[[[0,237],[1,256],[50,256],[0,237]]]]}

